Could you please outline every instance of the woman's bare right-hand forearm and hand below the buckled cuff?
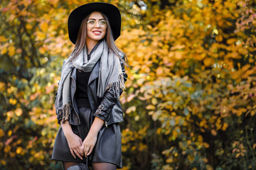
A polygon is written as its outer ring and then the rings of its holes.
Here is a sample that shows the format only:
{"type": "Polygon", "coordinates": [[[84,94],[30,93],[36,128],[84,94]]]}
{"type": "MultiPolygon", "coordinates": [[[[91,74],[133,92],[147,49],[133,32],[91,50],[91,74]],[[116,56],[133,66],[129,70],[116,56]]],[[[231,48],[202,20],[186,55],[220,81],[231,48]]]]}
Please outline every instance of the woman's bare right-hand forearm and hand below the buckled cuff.
{"type": "Polygon", "coordinates": [[[93,120],[90,131],[88,132],[87,137],[85,137],[85,140],[82,142],[82,147],[80,148],[80,153],[85,154],[85,157],[92,153],[92,150],[97,142],[97,134],[102,128],[103,124],[104,121],[100,118],[95,117],[95,120],[93,120]]]}

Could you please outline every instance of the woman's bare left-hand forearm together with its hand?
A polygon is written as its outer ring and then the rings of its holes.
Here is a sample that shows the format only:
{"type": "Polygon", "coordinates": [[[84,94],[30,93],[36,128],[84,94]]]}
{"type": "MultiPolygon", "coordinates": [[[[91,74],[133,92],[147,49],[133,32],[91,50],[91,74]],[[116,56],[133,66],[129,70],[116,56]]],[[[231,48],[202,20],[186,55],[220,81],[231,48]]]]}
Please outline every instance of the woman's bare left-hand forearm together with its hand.
{"type": "Polygon", "coordinates": [[[83,152],[80,152],[80,148],[82,146],[81,138],[78,135],[75,135],[68,121],[65,121],[65,123],[61,122],[60,125],[68,141],[68,147],[70,148],[71,154],[74,158],[75,155],[77,155],[80,159],[82,159],[81,155],[83,152]]]}

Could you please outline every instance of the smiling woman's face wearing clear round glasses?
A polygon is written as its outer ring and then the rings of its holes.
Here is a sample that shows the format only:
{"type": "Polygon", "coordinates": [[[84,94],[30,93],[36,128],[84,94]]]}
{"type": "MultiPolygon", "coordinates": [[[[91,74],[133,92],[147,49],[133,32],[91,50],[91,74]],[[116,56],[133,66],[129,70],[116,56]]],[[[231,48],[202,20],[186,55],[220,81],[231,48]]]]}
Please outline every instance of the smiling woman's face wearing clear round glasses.
{"type": "Polygon", "coordinates": [[[87,23],[87,36],[86,36],[86,39],[87,39],[87,42],[98,42],[99,40],[101,40],[102,38],[105,37],[106,35],[106,32],[107,32],[107,27],[104,28],[104,26],[102,26],[102,21],[104,23],[105,18],[102,16],[101,13],[99,12],[93,12],[91,13],[91,15],[89,16],[89,19],[87,22],[90,22],[90,23],[87,23]],[[95,22],[95,26],[93,26],[93,21],[95,22]],[[100,23],[101,22],[101,23],[100,23]]]}

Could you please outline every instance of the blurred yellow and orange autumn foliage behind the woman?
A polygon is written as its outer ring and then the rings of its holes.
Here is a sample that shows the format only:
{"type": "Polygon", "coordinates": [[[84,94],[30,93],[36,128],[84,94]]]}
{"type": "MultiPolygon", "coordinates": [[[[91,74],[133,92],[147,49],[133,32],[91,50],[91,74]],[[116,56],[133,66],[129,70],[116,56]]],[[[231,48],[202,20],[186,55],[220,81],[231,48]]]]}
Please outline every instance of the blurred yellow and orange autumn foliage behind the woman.
{"type": "MultiPolygon", "coordinates": [[[[1,0],[0,169],[50,160],[70,11],[92,1],[1,0]]],[[[124,169],[256,169],[256,1],[109,0],[129,59],[124,169]]]]}

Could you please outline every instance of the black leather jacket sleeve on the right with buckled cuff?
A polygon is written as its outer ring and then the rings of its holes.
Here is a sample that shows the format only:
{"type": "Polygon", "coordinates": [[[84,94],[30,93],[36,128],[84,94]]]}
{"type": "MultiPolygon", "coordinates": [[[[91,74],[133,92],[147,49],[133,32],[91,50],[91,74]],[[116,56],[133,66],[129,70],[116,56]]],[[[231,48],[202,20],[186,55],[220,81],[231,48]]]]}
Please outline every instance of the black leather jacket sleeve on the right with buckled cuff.
{"type": "MultiPolygon", "coordinates": [[[[122,60],[124,60],[124,55],[122,54],[122,60]]],[[[127,74],[125,73],[124,63],[120,60],[120,64],[122,67],[122,74],[124,76],[124,82],[127,81],[127,74]]],[[[119,89],[119,94],[121,96],[123,90],[119,89]]],[[[119,100],[117,97],[114,96],[114,91],[110,89],[110,91],[105,91],[105,94],[102,98],[102,101],[100,102],[100,106],[98,106],[96,112],[93,114],[94,116],[104,120],[107,122],[110,111],[112,111],[112,108],[114,107],[115,103],[117,103],[117,100],[119,100]]]]}

